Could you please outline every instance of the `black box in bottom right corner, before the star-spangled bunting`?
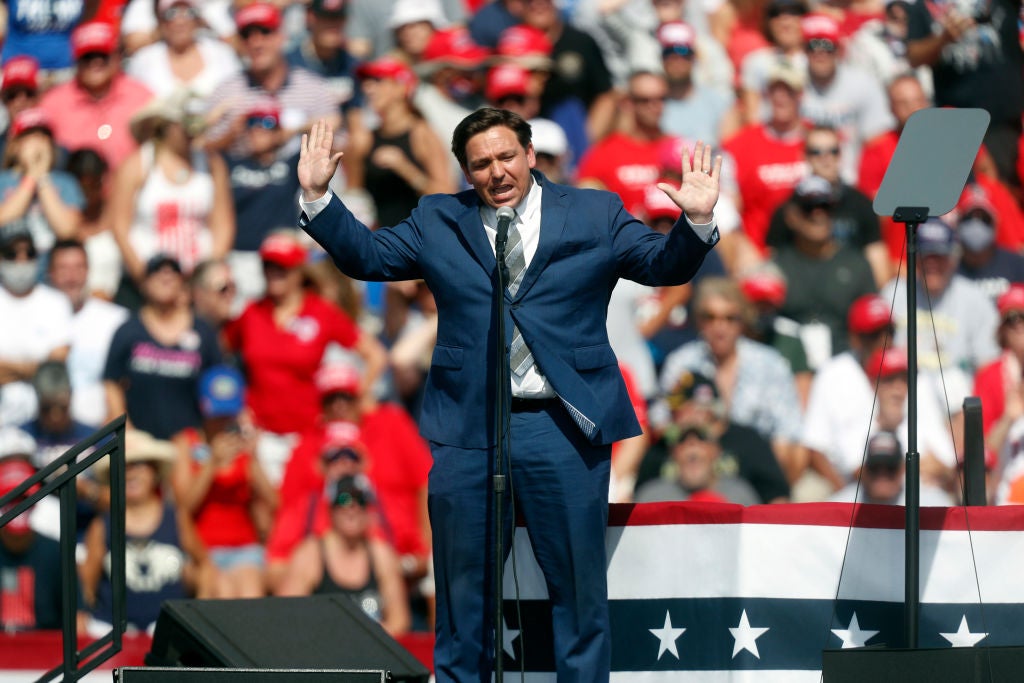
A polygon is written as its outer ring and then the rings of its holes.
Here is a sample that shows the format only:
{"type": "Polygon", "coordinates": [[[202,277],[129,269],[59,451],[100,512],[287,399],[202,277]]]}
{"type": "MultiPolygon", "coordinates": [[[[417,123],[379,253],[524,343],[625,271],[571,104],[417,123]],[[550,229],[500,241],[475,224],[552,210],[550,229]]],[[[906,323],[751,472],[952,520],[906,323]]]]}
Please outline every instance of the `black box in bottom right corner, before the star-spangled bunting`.
{"type": "Polygon", "coordinates": [[[1010,683],[1024,676],[1024,646],[825,650],[824,683],[1010,683]]]}

